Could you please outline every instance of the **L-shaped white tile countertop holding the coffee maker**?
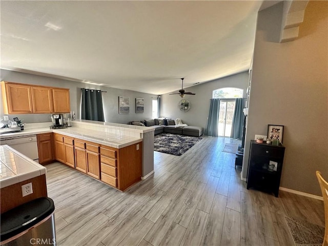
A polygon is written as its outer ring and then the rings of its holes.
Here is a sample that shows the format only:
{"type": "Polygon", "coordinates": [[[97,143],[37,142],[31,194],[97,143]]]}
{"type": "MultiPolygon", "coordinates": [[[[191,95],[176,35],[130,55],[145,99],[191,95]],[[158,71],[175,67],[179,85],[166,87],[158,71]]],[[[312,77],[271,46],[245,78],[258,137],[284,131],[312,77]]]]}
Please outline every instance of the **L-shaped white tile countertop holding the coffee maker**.
{"type": "Polygon", "coordinates": [[[76,137],[79,139],[83,139],[90,142],[96,142],[97,144],[106,145],[116,149],[134,145],[142,141],[142,138],[125,136],[121,134],[115,134],[115,133],[109,133],[103,131],[96,131],[91,129],[84,129],[80,127],[68,127],[65,129],[50,129],[49,127],[26,129],[21,132],[1,134],[0,139],[42,134],[48,132],[59,133],[70,137],[76,137]]]}

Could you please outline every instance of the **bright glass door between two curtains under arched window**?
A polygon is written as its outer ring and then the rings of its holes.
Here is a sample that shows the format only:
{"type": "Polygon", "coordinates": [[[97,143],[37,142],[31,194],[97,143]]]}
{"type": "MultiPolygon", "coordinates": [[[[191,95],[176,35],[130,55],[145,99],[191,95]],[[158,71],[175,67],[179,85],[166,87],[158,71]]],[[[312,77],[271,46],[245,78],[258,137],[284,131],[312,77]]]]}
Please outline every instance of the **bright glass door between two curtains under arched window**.
{"type": "Polygon", "coordinates": [[[230,137],[234,111],[235,111],[234,99],[220,100],[219,124],[218,124],[219,136],[230,137]]]}

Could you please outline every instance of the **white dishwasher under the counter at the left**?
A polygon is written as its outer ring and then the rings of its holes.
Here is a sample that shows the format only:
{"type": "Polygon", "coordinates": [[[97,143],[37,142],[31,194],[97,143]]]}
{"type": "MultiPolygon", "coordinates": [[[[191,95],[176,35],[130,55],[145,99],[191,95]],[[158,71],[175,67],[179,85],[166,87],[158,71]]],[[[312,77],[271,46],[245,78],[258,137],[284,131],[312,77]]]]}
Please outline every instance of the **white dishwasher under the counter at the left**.
{"type": "Polygon", "coordinates": [[[8,145],[18,152],[38,162],[36,135],[8,137],[0,140],[1,145],[8,145]]]}

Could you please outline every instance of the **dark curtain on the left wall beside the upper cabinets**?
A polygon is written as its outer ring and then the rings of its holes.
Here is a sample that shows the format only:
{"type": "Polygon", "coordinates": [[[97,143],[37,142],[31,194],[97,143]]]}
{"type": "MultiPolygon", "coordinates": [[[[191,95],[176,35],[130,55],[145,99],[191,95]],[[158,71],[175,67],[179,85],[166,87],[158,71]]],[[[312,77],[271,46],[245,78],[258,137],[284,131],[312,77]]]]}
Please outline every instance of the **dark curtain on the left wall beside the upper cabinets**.
{"type": "Polygon", "coordinates": [[[103,96],[100,90],[82,90],[81,118],[105,121],[103,96]]]}

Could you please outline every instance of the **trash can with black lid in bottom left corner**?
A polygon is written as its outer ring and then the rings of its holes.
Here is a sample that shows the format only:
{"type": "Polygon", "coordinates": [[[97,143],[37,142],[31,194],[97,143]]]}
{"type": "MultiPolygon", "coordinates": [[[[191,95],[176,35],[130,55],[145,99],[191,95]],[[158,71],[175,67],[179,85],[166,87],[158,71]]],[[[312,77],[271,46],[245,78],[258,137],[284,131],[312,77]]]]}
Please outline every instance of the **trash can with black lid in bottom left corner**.
{"type": "Polygon", "coordinates": [[[40,197],[1,215],[1,245],[56,245],[55,206],[40,197]]]}

